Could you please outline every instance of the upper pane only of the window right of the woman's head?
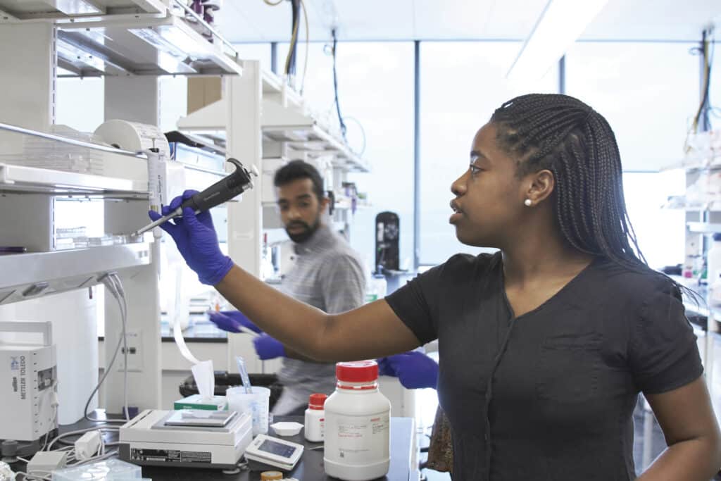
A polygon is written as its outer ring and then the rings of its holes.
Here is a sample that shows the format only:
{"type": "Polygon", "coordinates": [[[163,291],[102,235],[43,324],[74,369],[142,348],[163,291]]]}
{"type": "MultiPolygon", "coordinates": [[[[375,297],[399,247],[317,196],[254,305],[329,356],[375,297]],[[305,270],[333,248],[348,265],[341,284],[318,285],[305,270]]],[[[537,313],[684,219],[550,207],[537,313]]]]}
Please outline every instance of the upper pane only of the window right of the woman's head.
{"type": "Polygon", "coordinates": [[[681,162],[699,105],[695,43],[580,42],[566,55],[566,89],[609,120],[624,170],[681,162]]]}

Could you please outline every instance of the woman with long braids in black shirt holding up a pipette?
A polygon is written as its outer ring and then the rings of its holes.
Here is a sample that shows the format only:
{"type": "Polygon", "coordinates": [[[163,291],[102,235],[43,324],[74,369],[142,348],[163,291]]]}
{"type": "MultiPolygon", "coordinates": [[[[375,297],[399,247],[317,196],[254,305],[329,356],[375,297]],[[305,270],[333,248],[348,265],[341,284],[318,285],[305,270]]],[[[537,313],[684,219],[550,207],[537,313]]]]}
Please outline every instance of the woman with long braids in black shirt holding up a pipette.
{"type": "Polygon", "coordinates": [[[643,393],[668,444],[638,479],[708,481],[721,436],[676,283],[645,264],[606,120],[572,97],[505,102],[451,185],[455,255],[343,314],[283,297],[224,257],[209,216],[171,226],[188,265],[263,330],[311,358],[439,343],[454,479],[633,480],[643,393]],[[180,226],[180,227],[178,227],[180,226]]]}

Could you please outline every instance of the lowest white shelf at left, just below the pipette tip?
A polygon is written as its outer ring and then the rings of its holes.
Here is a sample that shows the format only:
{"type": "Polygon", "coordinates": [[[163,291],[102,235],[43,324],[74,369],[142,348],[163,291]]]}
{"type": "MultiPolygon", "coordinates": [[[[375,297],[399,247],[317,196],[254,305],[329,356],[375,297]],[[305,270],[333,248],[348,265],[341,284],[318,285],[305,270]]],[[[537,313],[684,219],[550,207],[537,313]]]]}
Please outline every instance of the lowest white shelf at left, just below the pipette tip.
{"type": "Polygon", "coordinates": [[[0,256],[0,304],[93,286],[105,273],[148,265],[150,245],[138,242],[0,256]],[[41,283],[47,286],[29,292],[41,283]]]}

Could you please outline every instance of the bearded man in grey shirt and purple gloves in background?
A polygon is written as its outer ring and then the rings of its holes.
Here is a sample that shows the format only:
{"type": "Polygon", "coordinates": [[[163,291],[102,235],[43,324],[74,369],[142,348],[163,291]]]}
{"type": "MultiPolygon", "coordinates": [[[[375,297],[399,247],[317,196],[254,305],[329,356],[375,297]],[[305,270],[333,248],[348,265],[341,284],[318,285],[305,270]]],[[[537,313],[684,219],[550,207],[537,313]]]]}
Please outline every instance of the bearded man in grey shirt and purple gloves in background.
{"type": "MultiPolygon", "coordinates": [[[[283,278],[280,290],[329,314],[363,304],[363,262],[322,219],[329,199],[317,169],[294,160],[275,172],[273,183],[280,219],[296,252],[296,265],[283,278]]],[[[259,332],[253,343],[262,360],[283,358],[278,372],[283,393],[273,407],[274,415],[302,415],[310,394],[331,394],[335,390],[335,363],[319,363],[294,353],[261,332],[242,312],[211,313],[210,319],[229,332],[240,332],[239,326],[259,332]]]]}

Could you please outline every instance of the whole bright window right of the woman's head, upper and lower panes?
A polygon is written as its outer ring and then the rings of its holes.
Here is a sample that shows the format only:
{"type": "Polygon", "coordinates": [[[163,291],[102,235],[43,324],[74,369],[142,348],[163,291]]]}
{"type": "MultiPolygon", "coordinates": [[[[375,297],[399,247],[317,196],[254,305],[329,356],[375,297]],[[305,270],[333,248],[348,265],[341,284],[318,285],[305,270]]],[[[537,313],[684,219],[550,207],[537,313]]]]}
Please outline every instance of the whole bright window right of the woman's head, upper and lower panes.
{"type": "Polygon", "coordinates": [[[685,213],[661,206],[668,195],[684,194],[685,176],[660,171],[681,162],[699,105],[699,58],[689,53],[694,46],[576,43],[566,56],[567,93],[601,112],[614,129],[627,172],[627,209],[653,268],[684,260],[685,213]]]}

